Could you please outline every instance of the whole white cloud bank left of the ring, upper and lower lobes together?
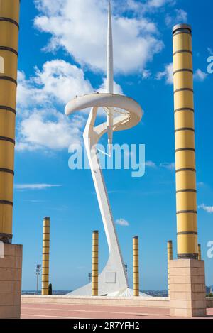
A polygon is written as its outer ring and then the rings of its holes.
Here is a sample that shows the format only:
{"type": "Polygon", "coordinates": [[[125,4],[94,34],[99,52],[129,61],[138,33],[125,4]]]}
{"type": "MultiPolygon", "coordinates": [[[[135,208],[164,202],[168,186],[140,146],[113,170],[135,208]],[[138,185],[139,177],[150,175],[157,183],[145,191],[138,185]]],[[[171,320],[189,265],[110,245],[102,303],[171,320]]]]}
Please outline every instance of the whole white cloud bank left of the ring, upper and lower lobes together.
{"type": "MultiPolygon", "coordinates": [[[[104,91],[105,80],[97,90],[104,91]]],[[[114,82],[117,94],[122,94],[114,82]]],[[[45,62],[42,70],[35,67],[35,75],[28,80],[18,72],[18,151],[68,148],[82,142],[85,113],[68,118],[64,107],[76,95],[94,92],[84,72],[64,60],[45,62]],[[56,110],[57,108],[57,110],[56,110]],[[21,111],[19,111],[21,110],[21,111]],[[61,110],[61,111],[58,111],[61,110]]]]}

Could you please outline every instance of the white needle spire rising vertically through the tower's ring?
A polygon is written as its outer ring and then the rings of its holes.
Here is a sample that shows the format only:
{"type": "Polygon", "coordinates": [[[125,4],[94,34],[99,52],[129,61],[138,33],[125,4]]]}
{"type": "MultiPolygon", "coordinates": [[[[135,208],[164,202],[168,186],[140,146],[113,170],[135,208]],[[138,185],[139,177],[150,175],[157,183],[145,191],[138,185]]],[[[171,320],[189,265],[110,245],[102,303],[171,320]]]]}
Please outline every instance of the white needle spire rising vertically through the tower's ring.
{"type": "MultiPolygon", "coordinates": [[[[114,92],[114,68],[113,68],[113,42],[111,28],[111,1],[109,1],[108,29],[107,29],[107,93],[114,92]]],[[[108,149],[109,155],[112,151],[113,125],[114,125],[114,109],[109,109],[107,114],[107,133],[108,133],[108,149]]]]}

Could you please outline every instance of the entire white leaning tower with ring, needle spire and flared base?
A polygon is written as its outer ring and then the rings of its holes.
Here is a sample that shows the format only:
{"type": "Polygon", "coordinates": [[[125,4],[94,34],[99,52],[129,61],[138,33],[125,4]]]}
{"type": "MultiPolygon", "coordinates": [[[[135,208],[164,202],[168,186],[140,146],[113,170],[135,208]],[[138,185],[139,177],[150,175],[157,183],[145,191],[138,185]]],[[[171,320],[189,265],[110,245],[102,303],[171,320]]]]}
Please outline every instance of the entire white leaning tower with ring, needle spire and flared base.
{"type": "MultiPolygon", "coordinates": [[[[106,266],[99,274],[99,295],[129,295],[127,276],[124,262],[116,235],[114,219],[111,212],[107,188],[99,164],[97,144],[106,133],[108,134],[109,155],[111,155],[113,131],[123,131],[136,126],[142,117],[140,105],[129,97],[114,94],[114,70],[113,70],[113,43],[111,28],[111,4],[109,1],[109,16],[107,30],[107,92],[87,94],[72,99],[65,107],[67,115],[75,111],[91,107],[87,124],[84,129],[84,146],[87,151],[89,165],[91,168],[94,187],[97,193],[99,209],[102,214],[104,230],[109,246],[109,258],[106,266]],[[107,121],[95,126],[97,111],[102,107],[107,113],[107,121]],[[120,115],[114,118],[114,112],[121,109],[120,115]]],[[[74,290],[70,295],[91,295],[92,284],[74,290]]]]}

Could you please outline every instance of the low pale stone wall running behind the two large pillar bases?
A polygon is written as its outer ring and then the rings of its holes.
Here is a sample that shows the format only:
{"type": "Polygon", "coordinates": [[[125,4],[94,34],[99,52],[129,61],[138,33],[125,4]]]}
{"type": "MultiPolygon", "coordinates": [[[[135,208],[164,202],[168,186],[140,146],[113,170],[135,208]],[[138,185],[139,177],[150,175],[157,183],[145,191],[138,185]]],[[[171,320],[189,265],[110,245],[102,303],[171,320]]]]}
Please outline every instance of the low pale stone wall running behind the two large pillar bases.
{"type": "MultiPolygon", "coordinates": [[[[168,308],[168,297],[91,297],[91,296],[41,296],[22,295],[22,303],[82,304],[82,305],[128,305],[134,307],[168,308]]],[[[213,297],[207,297],[207,307],[213,308],[213,297]]]]}

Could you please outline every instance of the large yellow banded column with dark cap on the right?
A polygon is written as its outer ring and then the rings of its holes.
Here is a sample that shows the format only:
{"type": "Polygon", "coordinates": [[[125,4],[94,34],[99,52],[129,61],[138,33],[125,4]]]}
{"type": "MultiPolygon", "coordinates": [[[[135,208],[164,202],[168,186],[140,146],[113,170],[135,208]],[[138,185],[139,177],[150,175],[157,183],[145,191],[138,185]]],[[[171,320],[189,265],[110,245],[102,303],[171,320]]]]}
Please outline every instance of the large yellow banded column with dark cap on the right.
{"type": "Polygon", "coordinates": [[[173,28],[173,65],[178,258],[197,259],[192,29],[187,24],[173,28]]]}

